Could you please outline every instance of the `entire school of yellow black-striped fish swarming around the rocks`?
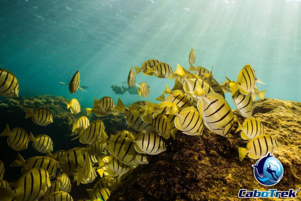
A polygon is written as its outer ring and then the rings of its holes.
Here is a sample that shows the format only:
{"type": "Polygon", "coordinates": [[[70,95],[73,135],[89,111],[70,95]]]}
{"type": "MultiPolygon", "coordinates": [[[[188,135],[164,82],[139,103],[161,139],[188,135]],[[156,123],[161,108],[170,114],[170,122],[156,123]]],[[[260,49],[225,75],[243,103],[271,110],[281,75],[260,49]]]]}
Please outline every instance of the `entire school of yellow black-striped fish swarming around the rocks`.
{"type": "MultiPolygon", "coordinates": [[[[53,152],[50,136],[28,134],[23,128],[10,129],[7,124],[0,137],[6,136],[12,149],[27,149],[28,143],[32,142],[34,149],[46,155],[24,159],[18,154],[10,166],[22,167],[23,175],[13,186],[3,180],[5,165],[0,160],[0,201],[70,201],[73,198],[69,193],[74,186],[93,181],[98,182],[92,189],[87,189],[87,196],[79,200],[107,200],[127,174],[137,166],[148,163],[148,155],[166,151],[168,147],[165,140],[170,137],[175,139],[178,130],[187,135],[201,136],[203,130],[208,129],[228,137],[233,128],[234,116],[224,93],[231,94],[238,111],[246,118],[242,124],[238,122],[236,130],[240,131],[242,139],[250,140],[246,148],[238,149],[239,159],[243,160],[246,155],[258,159],[267,152],[272,154],[280,143],[265,133],[263,124],[252,117],[255,106],[253,100],[257,96],[264,99],[265,94],[265,90],[259,91],[256,86],[256,82],[263,82],[256,78],[253,67],[247,64],[238,74],[237,81],[226,77],[226,81],[219,84],[213,77],[213,67],[211,71],[202,66],[195,68],[195,59],[195,52],[191,48],[188,70],[177,64],[173,71],[169,64],[156,59],[145,61],[141,68],[135,66],[136,74],[142,72],[146,76],[175,79],[175,85],[172,89],[166,85],[163,94],[156,99],[161,101],[159,104],[140,100],[126,107],[120,99],[115,105],[111,97],[105,96],[99,100],[94,98],[93,107],[86,108],[87,117],[80,117],[72,127],[72,133],[76,135],[72,140],[79,139],[82,147],[53,152]],[[107,134],[101,120],[89,121],[88,117],[92,113],[103,117],[112,111],[125,114],[131,131],[107,134]]],[[[129,88],[137,85],[132,67],[127,80],[129,88]]],[[[78,89],[85,91],[80,86],[79,71],[69,84],[60,83],[69,85],[71,94],[78,89]]],[[[0,95],[18,97],[18,91],[18,80],[13,73],[0,69],[0,95]]],[[[137,92],[145,98],[150,94],[150,86],[142,82],[137,85],[137,92]]],[[[72,114],[81,111],[75,98],[67,100],[66,104],[72,114]]],[[[53,123],[52,113],[45,107],[34,110],[28,108],[25,118],[29,117],[40,126],[53,123]]]]}

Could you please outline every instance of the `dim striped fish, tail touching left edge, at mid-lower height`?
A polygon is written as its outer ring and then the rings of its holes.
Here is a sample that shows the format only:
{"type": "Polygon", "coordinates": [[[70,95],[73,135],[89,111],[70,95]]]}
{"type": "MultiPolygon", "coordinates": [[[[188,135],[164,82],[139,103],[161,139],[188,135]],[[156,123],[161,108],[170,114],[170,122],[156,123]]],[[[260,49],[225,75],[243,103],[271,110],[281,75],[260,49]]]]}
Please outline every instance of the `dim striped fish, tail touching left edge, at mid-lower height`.
{"type": "Polygon", "coordinates": [[[29,136],[24,128],[17,127],[10,130],[8,124],[6,124],[6,127],[0,134],[0,137],[4,136],[8,136],[7,143],[13,150],[21,151],[27,149],[29,136]]]}

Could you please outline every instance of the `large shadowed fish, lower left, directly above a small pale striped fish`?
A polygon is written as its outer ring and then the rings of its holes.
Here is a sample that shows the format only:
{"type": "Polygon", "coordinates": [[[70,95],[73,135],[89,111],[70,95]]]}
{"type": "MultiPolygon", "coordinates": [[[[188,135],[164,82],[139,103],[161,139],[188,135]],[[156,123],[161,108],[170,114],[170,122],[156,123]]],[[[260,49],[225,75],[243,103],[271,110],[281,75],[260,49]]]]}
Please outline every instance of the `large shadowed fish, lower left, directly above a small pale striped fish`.
{"type": "Polygon", "coordinates": [[[66,175],[73,175],[73,172],[77,170],[78,166],[83,167],[87,155],[86,152],[87,148],[85,147],[76,147],[66,151],[59,160],[61,163],[61,172],[66,175]]]}

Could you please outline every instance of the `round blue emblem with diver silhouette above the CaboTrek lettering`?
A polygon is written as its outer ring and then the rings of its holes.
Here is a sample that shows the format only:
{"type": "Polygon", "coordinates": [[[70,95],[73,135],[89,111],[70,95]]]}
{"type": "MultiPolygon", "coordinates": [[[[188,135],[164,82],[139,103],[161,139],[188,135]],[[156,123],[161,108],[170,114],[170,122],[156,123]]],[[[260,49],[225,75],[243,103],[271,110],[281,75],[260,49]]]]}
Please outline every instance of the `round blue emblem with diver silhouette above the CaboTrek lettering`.
{"type": "Polygon", "coordinates": [[[277,184],[283,176],[283,166],[281,162],[271,155],[270,152],[266,156],[259,159],[254,167],[254,176],[256,180],[265,186],[277,184]]]}

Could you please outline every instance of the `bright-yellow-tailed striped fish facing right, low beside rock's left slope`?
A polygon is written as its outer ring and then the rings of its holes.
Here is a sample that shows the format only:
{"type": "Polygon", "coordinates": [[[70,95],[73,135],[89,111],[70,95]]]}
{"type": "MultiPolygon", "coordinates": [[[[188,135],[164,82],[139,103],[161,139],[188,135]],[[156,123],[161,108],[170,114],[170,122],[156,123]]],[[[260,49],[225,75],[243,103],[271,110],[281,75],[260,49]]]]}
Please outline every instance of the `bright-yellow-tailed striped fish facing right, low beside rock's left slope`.
{"type": "Polygon", "coordinates": [[[100,160],[99,167],[106,167],[108,174],[112,177],[123,175],[132,169],[131,166],[124,164],[113,155],[109,155],[107,163],[100,160]]]}

